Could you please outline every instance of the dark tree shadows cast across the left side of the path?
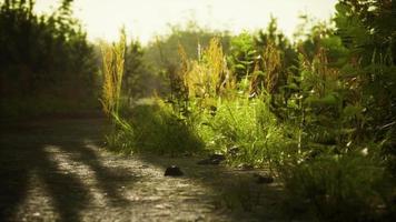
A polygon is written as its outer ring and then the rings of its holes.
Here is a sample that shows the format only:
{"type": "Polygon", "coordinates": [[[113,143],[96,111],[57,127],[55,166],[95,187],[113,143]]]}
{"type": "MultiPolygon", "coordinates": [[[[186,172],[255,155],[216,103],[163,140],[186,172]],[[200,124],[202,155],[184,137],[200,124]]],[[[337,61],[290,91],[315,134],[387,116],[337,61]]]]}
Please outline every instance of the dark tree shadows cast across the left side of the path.
{"type": "Polygon", "coordinates": [[[81,219],[81,212],[92,199],[85,175],[62,169],[60,162],[52,157],[53,153],[46,150],[48,147],[57,148],[59,153],[66,153],[73,162],[87,167],[93,174],[95,185],[110,204],[128,203],[117,188],[136,178],[123,172],[123,169],[111,170],[103,165],[100,157],[90,148],[98,145],[102,120],[70,121],[2,124],[0,221],[14,221],[19,206],[37,185],[49,195],[52,208],[59,214],[59,221],[81,219]]]}

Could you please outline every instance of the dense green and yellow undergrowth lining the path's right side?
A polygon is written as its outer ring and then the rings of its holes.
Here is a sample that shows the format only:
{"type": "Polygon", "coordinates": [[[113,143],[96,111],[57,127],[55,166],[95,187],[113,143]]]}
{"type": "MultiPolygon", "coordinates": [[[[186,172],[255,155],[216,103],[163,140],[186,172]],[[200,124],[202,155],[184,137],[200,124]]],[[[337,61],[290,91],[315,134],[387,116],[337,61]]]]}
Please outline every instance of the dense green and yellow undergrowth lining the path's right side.
{"type": "MultiPolygon", "coordinates": [[[[376,41],[395,32],[369,31],[376,24],[357,20],[370,13],[360,4],[341,1],[338,32],[317,26],[296,46],[274,22],[260,40],[247,33],[231,39],[229,54],[217,38],[196,59],[179,46],[168,97],[121,110],[122,48],[105,50],[115,58],[103,60],[102,102],[113,121],[109,147],[125,153],[221,153],[230,165],[269,168],[284,183],[293,213],[390,221],[396,216],[395,44],[376,41]]],[[[389,6],[373,7],[380,12],[389,6]]]]}

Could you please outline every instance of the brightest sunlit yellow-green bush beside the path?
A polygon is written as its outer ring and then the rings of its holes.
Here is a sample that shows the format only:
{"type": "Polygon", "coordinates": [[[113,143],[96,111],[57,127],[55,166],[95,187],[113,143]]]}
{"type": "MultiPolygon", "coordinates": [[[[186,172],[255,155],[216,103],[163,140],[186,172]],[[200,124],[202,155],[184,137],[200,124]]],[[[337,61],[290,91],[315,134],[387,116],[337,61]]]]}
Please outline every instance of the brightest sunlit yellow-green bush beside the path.
{"type": "Polygon", "coordinates": [[[201,112],[198,133],[212,152],[225,153],[232,165],[274,165],[293,140],[263,99],[218,102],[215,112],[201,112]]]}

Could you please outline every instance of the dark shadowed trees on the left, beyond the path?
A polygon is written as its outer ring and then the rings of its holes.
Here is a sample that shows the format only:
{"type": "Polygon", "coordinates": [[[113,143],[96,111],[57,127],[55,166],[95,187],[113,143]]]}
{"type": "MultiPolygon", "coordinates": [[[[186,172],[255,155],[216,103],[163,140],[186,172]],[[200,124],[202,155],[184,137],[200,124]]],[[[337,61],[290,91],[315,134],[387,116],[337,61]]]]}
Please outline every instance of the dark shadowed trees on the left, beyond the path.
{"type": "MultiPolygon", "coordinates": [[[[23,107],[19,103],[49,94],[65,104],[78,99],[77,107],[69,109],[96,104],[95,56],[72,18],[71,3],[62,1],[52,14],[38,16],[32,0],[0,2],[1,100],[11,111],[2,114],[32,114],[36,108],[19,110],[23,107]],[[12,102],[6,103],[6,97],[12,102]]],[[[49,105],[42,113],[61,111],[49,105]]]]}

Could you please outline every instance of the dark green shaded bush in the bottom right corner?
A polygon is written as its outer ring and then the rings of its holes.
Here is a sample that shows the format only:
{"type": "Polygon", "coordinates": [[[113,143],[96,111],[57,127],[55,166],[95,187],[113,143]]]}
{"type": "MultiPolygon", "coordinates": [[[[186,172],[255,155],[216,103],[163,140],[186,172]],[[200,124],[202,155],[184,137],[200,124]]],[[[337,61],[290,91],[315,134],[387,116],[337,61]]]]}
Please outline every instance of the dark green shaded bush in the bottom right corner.
{"type": "Polygon", "coordinates": [[[289,210],[326,221],[377,221],[392,212],[392,183],[378,160],[324,155],[281,171],[289,210]]]}

